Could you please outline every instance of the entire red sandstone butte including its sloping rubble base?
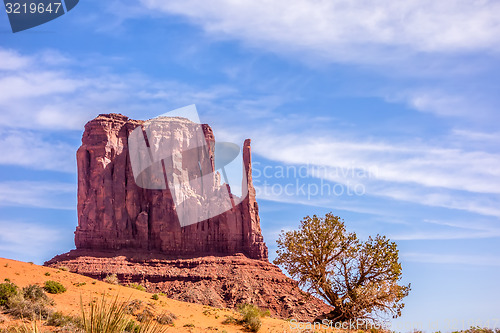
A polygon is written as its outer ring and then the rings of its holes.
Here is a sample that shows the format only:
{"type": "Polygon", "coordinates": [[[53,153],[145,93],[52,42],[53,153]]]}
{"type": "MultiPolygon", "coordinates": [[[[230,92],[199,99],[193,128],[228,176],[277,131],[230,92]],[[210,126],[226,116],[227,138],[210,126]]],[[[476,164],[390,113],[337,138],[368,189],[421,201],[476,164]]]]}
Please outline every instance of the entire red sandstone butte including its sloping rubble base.
{"type": "MultiPolygon", "coordinates": [[[[230,195],[229,210],[181,226],[168,188],[145,189],[134,178],[128,138],[139,126],[144,128],[144,122],[118,114],[99,115],[85,125],[77,152],[76,250],[46,265],[100,279],[117,274],[122,283],[140,283],[150,292],[182,301],[218,307],[252,303],[281,318],[313,320],[331,311],[268,262],[252,185],[250,140],[243,145],[246,196],[230,195]]],[[[156,147],[166,135],[184,149],[186,142],[201,135],[209,149],[199,170],[204,164],[214,171],[214,134],[208,125],[202,125],[201,134],[194,134],[195,124],[184,118],[161,119],[159,126],[164,134],[145,136],[149,147],[156,147]]],[[[178,161],[168,163],[179,177],[189,173],[181,170],[184,166],[178,161]]],[[[214,185],[210,190],[222,191],[225,186],[214,185]]],[[[183,199],[194,200],[196,210],[202,209],[199,189],[188,190],[191,197],[183,199]]]]}

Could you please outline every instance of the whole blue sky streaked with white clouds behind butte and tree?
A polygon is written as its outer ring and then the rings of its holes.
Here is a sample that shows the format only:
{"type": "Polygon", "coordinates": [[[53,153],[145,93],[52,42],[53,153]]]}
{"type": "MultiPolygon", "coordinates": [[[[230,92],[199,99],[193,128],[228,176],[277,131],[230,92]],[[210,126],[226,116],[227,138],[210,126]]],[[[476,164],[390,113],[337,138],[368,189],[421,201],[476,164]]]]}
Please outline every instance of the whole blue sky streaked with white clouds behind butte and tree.
{"type": "Polygon", "coordinates": [[[2,11],[0,256],[73,247],[86,121],[196,104],[217,139],[252,138],[271,259],[333,211],[398,243],[394,329],[499,327],[499,51],[488,0],[86,0],[16,34],[2,11]]]}

